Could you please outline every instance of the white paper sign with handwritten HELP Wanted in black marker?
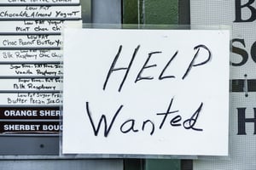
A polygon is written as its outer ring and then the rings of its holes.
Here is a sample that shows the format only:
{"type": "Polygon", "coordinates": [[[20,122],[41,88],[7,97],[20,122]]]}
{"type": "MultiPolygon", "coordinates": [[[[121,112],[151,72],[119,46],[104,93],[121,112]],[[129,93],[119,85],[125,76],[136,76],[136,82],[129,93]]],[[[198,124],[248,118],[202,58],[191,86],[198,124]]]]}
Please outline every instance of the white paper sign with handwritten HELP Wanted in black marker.
{"type": "Polygon", "coordinates": [[[66,29],[63,153],[228,155],[229,31],[66,29]]]}

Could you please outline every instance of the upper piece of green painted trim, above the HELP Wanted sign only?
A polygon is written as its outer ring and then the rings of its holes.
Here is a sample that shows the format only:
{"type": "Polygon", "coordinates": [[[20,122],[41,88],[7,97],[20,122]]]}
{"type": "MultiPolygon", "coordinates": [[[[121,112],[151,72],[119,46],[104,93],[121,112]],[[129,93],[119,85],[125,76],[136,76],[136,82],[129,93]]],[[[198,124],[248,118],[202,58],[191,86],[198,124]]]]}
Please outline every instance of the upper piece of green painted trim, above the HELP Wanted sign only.
{"type": "Polygon", "coordinates": [[[177,25],[178,0],[123,0],[123,24],[177,25]]]}

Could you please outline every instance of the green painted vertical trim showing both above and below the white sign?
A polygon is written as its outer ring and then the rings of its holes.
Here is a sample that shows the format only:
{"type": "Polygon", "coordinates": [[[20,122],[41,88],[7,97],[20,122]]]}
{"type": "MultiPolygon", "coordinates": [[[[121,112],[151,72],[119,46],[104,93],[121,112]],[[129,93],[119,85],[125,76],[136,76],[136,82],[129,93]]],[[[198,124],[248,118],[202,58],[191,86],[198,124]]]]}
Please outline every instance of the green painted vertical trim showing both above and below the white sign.
{"type": "MultiPolygon", "coordinates": [[[[123,0],[123,24],[177,25],[178,0],[123,0]]],[[[125,160],[125,170],[180,170],[177,159],[125,160]]]]}

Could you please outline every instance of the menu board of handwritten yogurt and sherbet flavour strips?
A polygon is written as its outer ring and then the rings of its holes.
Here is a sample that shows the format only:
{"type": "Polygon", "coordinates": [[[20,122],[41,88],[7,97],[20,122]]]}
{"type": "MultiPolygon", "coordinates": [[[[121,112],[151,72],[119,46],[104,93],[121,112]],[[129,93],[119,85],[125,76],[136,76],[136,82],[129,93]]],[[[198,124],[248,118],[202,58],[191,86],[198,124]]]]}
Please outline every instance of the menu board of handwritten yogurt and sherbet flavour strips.
{"type": "Polygon", "coordinates": [[[79,0],[0,6],[0,135],[59,135],[61,30],[82,26],[79,0]]]}

